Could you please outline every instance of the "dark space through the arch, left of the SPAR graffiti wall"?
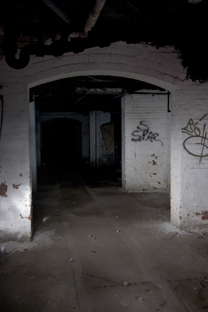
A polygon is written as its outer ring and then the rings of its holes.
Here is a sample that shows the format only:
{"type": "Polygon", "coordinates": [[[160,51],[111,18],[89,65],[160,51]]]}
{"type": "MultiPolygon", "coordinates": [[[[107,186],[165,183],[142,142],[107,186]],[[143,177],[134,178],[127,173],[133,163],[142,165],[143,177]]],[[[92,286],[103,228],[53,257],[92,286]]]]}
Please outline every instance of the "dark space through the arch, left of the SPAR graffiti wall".
{"type": "Polygon", "coordinates": [[[158,87],[125,77],[77,76],[31,88],[39,177],[55,184],[77,173],[92,188],[121,186],[121,98],[144,89],[158,87]],[[114,125],[110,149],[100,129],[106,124],[114,125]]]}

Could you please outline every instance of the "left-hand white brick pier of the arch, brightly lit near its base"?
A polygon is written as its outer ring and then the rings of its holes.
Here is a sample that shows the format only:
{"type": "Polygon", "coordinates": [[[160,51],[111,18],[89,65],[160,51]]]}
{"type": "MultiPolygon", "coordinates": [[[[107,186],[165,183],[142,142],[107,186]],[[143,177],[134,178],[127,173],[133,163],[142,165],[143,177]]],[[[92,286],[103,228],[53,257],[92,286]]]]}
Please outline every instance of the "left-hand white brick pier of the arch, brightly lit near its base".
{"type": "Polygon", "coordinates": [[[0,241],[27,241],[32,234],[29,96],[27,84],[18,81],[16,71],[8,70],[3,73],[0,90],[0,241]]]}

